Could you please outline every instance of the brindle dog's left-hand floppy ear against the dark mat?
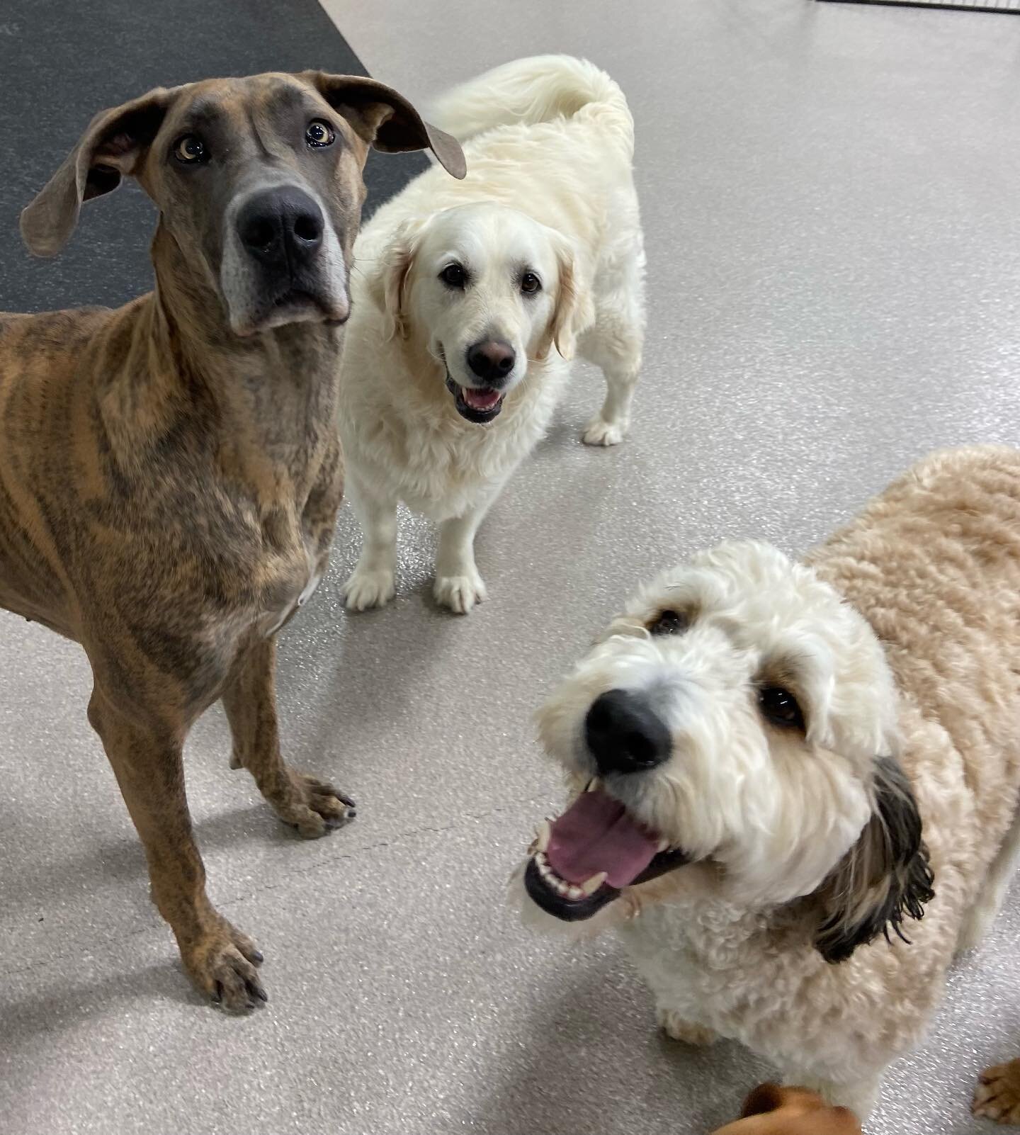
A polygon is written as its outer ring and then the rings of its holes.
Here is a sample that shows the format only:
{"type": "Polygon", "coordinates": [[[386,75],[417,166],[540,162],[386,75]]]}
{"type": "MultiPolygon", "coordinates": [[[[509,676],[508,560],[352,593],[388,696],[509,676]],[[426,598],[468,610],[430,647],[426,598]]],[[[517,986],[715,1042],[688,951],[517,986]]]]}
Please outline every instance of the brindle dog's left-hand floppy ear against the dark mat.
{"type": "Polygon", "coordinates": [[[22,212],[22,237],[29,251],[56,257],[75,230],[82,202],[110,193],[135,171],[176,90],[157,87],[92,119],[64,165],[22,212]]]}

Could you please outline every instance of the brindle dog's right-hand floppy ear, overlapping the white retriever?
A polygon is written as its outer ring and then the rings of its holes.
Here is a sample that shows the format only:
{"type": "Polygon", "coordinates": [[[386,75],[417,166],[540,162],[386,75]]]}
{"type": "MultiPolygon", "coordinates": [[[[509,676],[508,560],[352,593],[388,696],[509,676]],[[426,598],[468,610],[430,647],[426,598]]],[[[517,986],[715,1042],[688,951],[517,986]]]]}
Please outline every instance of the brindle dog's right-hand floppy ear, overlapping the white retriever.
{"type": "Polygon", "coordinates": [[[328,75],[305,72],[307,79],[323,99],[344,115],[361,136],[376,150],[403,153],[407,150],[431,150],[439,165],[456,178],[467,173],[464,151],[453,135],[430,126],[393,87],[357,75],[328,75]]]}

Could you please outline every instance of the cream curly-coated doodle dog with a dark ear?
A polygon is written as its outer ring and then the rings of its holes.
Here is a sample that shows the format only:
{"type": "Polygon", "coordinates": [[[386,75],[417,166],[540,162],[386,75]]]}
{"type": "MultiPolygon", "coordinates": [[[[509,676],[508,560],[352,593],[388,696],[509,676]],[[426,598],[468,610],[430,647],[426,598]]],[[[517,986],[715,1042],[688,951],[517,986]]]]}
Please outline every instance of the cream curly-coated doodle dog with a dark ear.
{"type": "Polygon", "coordinates": [[[928,457],[804,563],[666,571],[540,713],[574,797],[525,914],[618,924],[668,1033],[866,1116],[1013,866],[1018,616],[1005,448],[928,457]]]}

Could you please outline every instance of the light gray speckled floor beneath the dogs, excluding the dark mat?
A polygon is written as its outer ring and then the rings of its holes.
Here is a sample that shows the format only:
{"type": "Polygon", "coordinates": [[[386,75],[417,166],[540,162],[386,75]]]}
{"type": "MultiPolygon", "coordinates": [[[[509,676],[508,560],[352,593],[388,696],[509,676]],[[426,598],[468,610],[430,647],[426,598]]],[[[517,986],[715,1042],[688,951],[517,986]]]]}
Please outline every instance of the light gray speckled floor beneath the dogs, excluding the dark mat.
{"type": "MultiPolygon", "coordinates": [[[[696,1135],[768,1069],[651,1027],[612,940],[566,949],[501,907],[556,782],[542,691],[642,575],[731,535],[804,548],[935,445],[1020,442],[1020,19],[812,0],[329,0],[415,98],[517,54],[588,54],[627,91],[650,328],[629,444],[581,447],[579,372],[483,529],[490,599],[347,619],[330,577],[287,630],[292,758],[359,799],[292,839],[227,768],[219,713],[189,794],[211,892],[267,955],[270,1004],[203,1007],[146,898],[84,715],[76,648],[0,616],[0,1130],[147,1135],[696,1135]]],[[[1020,903],[953,975],[870,1130],[983,1129],[972,1078],[1020,1050],[1020,903]]]]}

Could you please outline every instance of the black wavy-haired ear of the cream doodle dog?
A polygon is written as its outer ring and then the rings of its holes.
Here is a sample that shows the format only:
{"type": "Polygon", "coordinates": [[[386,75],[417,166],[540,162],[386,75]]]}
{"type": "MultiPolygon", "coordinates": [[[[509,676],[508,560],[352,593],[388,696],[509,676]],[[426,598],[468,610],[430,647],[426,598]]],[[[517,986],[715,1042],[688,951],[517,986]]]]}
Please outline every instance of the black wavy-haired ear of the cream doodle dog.
{"type": "Polygon", "coordinates": [[[871,818],[860,839],[821,884],[825,914],[815,945],[826,961],[845,961],[890,928],[908,944],[904,917],[921,918],[935,897],[921,816],[910,781],[893,757],[875,763],[871,818]]]}

